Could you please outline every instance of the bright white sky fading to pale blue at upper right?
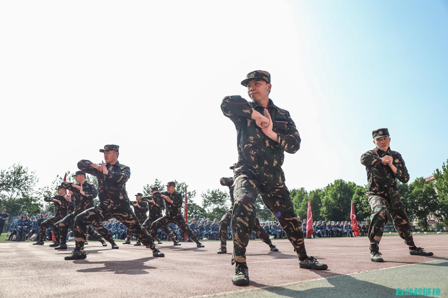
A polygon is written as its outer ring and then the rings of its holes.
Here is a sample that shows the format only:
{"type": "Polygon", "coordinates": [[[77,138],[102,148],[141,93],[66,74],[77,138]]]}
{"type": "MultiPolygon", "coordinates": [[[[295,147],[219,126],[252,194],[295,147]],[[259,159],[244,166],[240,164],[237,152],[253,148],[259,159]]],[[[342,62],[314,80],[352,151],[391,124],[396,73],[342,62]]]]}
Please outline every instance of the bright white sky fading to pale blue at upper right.
{"type": "Polygon", "coordinates": [[[237,161],[228,95],[271,73],[301,149],[289,189],[366,184],[359,158],[387,127],[411,181],[448,159],[446,1],[3,1],[0,169],[21,163],[38,187],[120,146],[130,195],[156,178],[194,201],[227,190],[237,161]]]}

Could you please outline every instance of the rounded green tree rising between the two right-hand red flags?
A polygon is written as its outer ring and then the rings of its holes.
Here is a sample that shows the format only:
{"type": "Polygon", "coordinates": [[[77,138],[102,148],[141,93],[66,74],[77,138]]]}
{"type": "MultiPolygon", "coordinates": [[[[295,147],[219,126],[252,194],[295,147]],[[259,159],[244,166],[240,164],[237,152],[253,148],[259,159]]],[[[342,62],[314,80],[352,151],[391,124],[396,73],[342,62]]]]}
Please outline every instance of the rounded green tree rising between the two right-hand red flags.
{"type": "Polygon", "coordinates": [[[324,189],[320,216],[325,220],[347,220],[350,217],[351,200],[353,198],[353,182],[342,179],[335,180],[324,189]]]}

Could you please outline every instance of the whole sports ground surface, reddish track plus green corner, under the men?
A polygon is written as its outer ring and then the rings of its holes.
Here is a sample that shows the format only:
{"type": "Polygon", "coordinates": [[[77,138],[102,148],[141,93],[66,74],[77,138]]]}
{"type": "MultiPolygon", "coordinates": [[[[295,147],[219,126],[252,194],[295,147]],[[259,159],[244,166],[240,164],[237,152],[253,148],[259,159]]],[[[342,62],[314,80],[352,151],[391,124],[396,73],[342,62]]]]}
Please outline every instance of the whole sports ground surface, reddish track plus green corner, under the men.
{"type": "MultiPolygon", "coordinates": [[[[396,297],[396,288],[440,288],[448,297],[448,236],[416,236],[418,246],[434,256],[410,256],[398,236],[384,237],[385,263],[369,260],[362,238],[306,239],[308,255],[327,263],[326,271],[298,268],[292,246],[274,240],[280,252],[261,241],[247,251],[250,285],[230,281],[230,254],[218,255],[218,241],[174,247],[158,245],[165,258],[133,245],[86,246],[87,259],[65,261],[70,251],[55,251],[26,243],[0,243],[0,298],[31,297],[396,297]]],[[[230,243],[229,243],[230,244],[230,243]]],[[[73,243],[70,243],[73,247],[73,243]]],[[[420,296],[421,297],[421,296],[420,296]]],[[[423,296],[424,297],[424,296],[423,296]]],[[[428,296],[429,297],[429,296],[428,296]]]]}

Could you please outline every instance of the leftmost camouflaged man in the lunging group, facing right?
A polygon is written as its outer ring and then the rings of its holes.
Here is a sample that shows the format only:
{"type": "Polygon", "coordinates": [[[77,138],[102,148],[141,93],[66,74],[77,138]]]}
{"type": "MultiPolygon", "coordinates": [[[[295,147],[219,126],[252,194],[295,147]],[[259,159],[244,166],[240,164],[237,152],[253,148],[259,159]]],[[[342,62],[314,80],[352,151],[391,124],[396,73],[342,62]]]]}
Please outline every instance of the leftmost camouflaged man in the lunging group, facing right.
{"type": "MultiPolygon", "coordinates": [[[[60,221],[62,218],[64,218],[67,215],[67,202],[65,201],[63,195],[65,193],[65,190],[62,188],[62,186],[58,186],[56,188],[57,195],[54,197],[45,197],[43,200],[46,202],[54,202],[55,204],[55,216],[52,218],[48,218],[46,221],[42,222],[40,224],[39,228],[39,240],[37,240],[36,243],[33,243],[33,245],[43,245],[44,239],[45,239],[45,233],[47,232],[47,228],[54,225],[56,222],[60,221]]],[[[57,234],[57,231],[53,231],[53,235],[55,236],[56,241],[59,239],[59,234],[57,234]]],[[[55,241],[55,243],[56,243],[55,241]]],[[[54,244],[52,246],[54,246],[54,244]]]]}

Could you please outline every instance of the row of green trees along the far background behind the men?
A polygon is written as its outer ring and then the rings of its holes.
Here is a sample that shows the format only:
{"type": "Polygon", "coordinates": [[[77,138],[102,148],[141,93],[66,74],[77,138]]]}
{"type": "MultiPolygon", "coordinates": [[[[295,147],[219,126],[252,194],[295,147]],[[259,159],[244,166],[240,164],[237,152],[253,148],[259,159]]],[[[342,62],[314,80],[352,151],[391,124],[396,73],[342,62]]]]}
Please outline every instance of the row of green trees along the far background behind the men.
{"type": "MultiPolygon", "coordinates": [[[[448,164],[448,160],[447,160],[448,164]]],[[[398,182],[401,201],[406,206],[409,218],[418,219],[418,225],[428,228],[427,217],[436,218],[439,225],[448,225],[448,167],[443,163],[441,169],[435,169],[435,181],[425,182],[419,177],[409,184],[398,182]]],[[[6,208],[10,215],[17,215],[22,211],[38,214],[40,210],[54,212],[54,205],[43,201],[44,197],[52,197],[56,187],[63,181],[64,176],[57,175],[51,185],[36,189],[39,182],[36,172],[30,171],[22,164],[13,164],[5,170],[0,170],[0,209],[6,208]]],[[[86,175],[90,183],[98,186],[95,176],[86,175]]],[[[75,182],[72,174],[67,172],[67,181],[75,182]]],[[[187,186],[187,215],[188,218],[220,219],[230,207],[229,194],[221,189],[207,189],[201,193],[202,204],[195,203],[196,191],[191,190],[185,182],[175,181],[176,191],[185,197],[187,186]]],[[[152,184],[142,187],[143,195],[151,194],[151,187],[158,186],[165,189],[161,180],[155,179],[152,184]]],[[[366,185],[356,185],[342,179],[319,189],[307,191],[304,188],[291,189],[291,199],[297,215],[306,219],[308,197],[310,197],[314,220],[349,220],[351,201],[359,220],[370,221],[370,206],[366,200],[366,185]]],[[[133,197],[130,196],[132,200],[133,197]]],[[[95,204],[98,202],[95,199],[95,204]]],[[[275,216],[264,206],[260,196],[257,197],[256,208],[261,221],[275,220],[275,216]]]]}

